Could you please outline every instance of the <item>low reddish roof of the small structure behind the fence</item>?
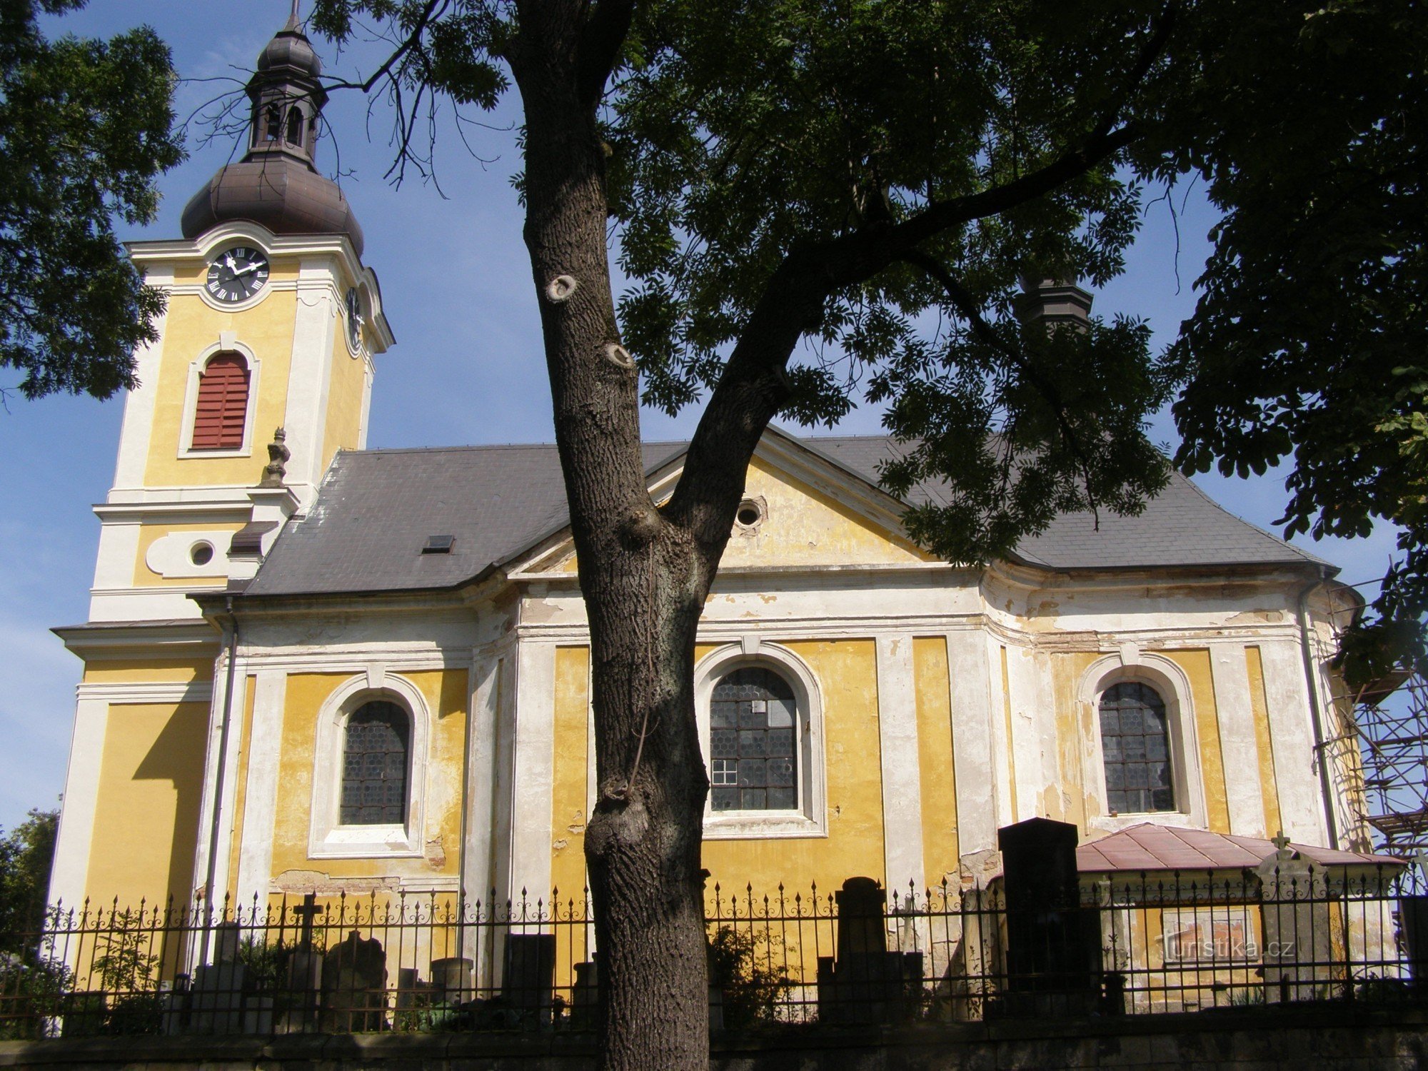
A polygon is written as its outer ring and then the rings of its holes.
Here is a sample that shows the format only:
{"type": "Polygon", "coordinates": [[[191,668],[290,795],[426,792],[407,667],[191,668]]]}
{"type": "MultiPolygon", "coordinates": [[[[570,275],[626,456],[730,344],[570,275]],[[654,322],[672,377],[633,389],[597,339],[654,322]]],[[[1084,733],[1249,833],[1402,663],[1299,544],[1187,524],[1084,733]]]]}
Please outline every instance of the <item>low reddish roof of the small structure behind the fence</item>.
{"type": "MultiPolygon", "coordinates": [[[[1402,860],[1392,855],[1317,848],[1308,844],[1289,844],[1289,847],[1309,863],[1327,867],[1405,865],[1402,860]]],[[[1078,844],[1075,867],[1082,874],[1142,870],[1240,870],[1258,867],[1272,851],[1274,843],[1262,837],[1231,837],[1208,830],[1184,830],[1174,825],[1141,823],[1098,841],[1078,844]]]]}

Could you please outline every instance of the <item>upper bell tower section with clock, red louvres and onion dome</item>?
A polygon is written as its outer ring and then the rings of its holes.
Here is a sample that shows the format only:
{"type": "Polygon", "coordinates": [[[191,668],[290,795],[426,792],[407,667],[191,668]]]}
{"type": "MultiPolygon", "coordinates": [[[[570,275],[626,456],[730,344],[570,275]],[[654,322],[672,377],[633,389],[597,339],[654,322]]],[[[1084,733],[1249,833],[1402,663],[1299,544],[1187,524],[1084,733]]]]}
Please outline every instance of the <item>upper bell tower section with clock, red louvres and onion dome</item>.
{"type": "Polygon", "coordinates": [[[251,575],[333,454],[366,443],[373,357],[393,338],[351,204],[314,167],[320,74],[294,13],[247,84],[243,159],[193,196],[181,240],[130,246],[169,307],[97,507],[94,621],[197,620],[187,591],[251,575]]]}

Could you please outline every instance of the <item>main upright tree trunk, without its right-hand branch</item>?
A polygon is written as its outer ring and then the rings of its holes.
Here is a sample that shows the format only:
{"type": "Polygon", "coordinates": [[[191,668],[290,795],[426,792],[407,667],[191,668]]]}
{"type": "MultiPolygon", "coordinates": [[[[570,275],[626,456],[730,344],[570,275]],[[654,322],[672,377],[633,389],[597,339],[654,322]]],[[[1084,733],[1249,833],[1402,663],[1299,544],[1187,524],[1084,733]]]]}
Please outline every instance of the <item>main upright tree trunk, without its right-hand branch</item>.
{"type": "Polygon", "coordinates": [[[511,66],[526,107],[526,243],[590,621],[598,801],[585,858],[601,1067],[705,1071],[708,778],[693,668],[723,541],[698,545],[661,516],[645,486],[638,374],[620,348],[610,294],[604,146],[575,77],[580,9],[523,9],[511,66]]]}

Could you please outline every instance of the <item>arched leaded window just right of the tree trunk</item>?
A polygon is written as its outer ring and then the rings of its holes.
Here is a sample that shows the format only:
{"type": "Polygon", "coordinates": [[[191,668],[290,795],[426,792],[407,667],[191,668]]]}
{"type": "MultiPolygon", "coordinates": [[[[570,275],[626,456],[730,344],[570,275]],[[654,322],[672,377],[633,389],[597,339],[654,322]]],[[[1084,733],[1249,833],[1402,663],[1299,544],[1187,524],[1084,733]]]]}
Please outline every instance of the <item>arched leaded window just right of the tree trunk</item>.
{"type": "Polygon", "coordinates": [[[798,807],[798,704],[773,670],[734,670],[710,700],[710,780],[715,811],[798,807]]]}

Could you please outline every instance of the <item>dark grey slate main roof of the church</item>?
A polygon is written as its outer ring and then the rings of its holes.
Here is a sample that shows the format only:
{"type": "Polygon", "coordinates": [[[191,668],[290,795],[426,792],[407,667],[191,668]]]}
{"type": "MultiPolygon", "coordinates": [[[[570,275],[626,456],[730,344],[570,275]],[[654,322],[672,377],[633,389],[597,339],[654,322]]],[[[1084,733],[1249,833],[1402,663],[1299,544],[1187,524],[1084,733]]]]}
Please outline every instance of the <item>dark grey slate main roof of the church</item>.
{"type": "MultiPolygon", "coordinates": [[[[881,436],[785,438],[877,484],[895,444],[881,436]]],[[[647,443],[653,470],[683,443],[647,443]]],[[[918,487],[912,504],[935,498],[918,487]]],[[[248,595],[413,591],[454,587],[564,527],[565,490],[554,446],[480,446],[341,451],[304,517],[278,536],[248,595]],[[453,536],[448,554],[423,554],[453,536]]],[[[1058,570],[1222,564],[1321,564],[1222,510],[1175,477],[1140,517],[1057,518],[1018,557],[1058,570]]]]}

